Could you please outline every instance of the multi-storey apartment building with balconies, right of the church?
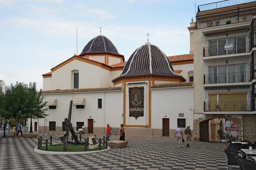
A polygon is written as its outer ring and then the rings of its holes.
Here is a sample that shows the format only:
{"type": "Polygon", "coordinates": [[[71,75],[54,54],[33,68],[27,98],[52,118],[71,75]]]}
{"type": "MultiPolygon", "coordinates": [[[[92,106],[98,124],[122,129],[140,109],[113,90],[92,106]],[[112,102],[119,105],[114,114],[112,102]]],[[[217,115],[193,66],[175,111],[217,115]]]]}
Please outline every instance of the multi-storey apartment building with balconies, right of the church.
{"type": "Polygon", "coordinates": [[[256,140],[256,0],[198,6],[194,41],[194,139],[208,141],[226,119],[241,140],[256,140]]]}

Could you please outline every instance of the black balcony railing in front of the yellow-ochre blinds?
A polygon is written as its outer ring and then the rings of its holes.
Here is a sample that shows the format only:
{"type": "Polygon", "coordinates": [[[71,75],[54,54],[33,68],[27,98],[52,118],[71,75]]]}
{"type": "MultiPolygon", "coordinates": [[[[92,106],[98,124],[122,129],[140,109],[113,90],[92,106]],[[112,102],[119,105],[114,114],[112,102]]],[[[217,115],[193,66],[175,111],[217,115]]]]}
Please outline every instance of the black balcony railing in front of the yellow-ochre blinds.
{"type": "Polygon", "coordinates": [[[204,111],[251,111],[251,101],[204,102],[204,111]]]}

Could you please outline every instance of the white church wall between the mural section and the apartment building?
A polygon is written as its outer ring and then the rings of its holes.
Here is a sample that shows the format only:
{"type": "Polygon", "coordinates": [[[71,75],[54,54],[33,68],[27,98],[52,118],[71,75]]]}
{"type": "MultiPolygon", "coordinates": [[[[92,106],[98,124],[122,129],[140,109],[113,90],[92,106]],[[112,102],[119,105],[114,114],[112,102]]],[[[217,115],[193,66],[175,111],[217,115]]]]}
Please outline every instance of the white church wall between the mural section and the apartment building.
{"type": "Polygon", "coordinates": [[[169,118],[170,129],[177,128],[177,119],[186,119],[186,125],[193,129],[193,88],[152,89],[151,128],[162,129],[163,118],[169,118]],[[179,117],[184,113],[184,117],[179,117]],[[165,117],[166,116],[166,117],[165,117]]]}

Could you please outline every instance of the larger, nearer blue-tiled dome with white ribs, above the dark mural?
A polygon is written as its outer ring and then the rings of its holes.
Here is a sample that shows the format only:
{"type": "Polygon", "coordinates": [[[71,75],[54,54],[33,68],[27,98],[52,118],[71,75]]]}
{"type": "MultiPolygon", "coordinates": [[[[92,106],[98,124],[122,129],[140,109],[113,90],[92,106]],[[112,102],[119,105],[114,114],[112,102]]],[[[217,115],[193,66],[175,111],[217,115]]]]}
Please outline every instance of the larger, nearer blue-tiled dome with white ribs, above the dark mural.
{"type": "Polygon", "coordinates": [[[163,51],[156,45],[146,42],[140,48],[131,54],[131,57],[125,64],[122,74],[113,79],[117,82],[120,79],[139,78],[139,77],[162,77],[169,79],[180,79],[185,82],[186,79],[176,74],[172,68],[172,64],[163,51]]]}

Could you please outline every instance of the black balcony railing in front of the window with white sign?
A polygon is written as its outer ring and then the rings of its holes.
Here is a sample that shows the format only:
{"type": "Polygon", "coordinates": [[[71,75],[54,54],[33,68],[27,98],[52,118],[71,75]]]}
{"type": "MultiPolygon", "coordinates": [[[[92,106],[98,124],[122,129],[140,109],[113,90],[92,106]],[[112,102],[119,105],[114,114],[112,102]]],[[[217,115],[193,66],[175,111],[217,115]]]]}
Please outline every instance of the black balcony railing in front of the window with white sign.
{"type": "Polygon", "coordinates": [[[250,52],[250,42],[204,47],[204,57],[250,52]]]}

